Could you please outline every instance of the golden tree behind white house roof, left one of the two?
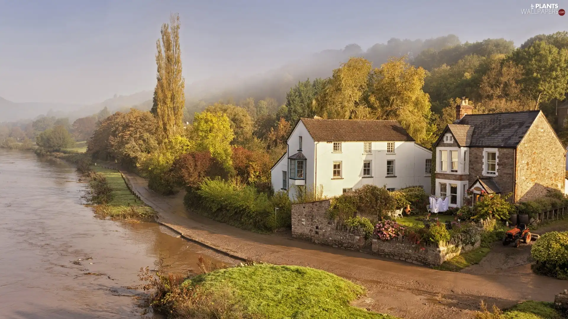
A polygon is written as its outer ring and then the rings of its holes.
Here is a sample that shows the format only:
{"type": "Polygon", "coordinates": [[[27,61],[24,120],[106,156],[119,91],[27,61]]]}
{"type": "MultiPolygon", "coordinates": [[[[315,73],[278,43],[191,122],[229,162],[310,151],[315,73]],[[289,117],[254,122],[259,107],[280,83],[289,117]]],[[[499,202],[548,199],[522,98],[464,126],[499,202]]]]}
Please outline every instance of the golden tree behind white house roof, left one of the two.
{"type": "Polygon", "coordinates": [[[316,114],[329,119],[360,119],[369,117],[362,97],[367,90],[371,62],[361,57],[350,58],[333,70],[323,89],[315,98],[316,114]]]}

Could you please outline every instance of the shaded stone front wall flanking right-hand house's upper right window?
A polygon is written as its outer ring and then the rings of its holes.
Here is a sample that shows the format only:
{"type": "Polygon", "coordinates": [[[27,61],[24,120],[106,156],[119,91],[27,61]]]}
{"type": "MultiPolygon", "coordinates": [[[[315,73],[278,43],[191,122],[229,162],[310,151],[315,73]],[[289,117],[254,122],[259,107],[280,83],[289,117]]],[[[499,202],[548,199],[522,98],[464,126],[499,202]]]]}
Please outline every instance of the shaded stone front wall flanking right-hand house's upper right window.
{"type": "MultiPolygon", "coordinates": [[[[513,191],[513,173],[515,171],[515,149],[498,148],[497,176],[493,179],[501,188],[501,194],[506,195],[513,191]]],[[[483,177],[483,148],[469,149],[469,184],[473,184],[477,177],[483,177]]],[[[512,198],[510,198],[512,200],[512,198]]]]}

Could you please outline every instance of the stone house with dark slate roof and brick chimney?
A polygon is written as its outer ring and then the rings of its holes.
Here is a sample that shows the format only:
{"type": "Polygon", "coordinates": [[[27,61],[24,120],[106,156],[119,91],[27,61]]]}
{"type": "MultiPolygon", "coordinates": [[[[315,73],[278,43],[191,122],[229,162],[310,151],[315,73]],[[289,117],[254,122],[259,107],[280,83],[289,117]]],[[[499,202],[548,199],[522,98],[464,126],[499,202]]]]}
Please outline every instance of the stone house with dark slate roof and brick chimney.
{"type": "Polygon", "coordinates": [[[541,111],[471,114],[467,99],[456,121],[433,144],[436,187],[460,207],[467,191],[475,203],[482,191],[512,193],[513,203],[565,191],[566,149],[541,111]]]}

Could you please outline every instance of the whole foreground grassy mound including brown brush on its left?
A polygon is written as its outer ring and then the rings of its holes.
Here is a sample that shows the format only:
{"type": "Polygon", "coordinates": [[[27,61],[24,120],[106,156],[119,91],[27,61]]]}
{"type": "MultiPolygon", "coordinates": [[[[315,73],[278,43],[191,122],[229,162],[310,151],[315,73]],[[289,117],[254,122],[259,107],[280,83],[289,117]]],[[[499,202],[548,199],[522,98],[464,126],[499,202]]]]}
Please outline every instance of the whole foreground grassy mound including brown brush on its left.
{"type": "Polygon", "coordinates": [[[169,318],[396,319],[352,307],[365,288],[329,272],[268,264],[224,268],[172,284],[161,278],[153,307],[169,318]]]}

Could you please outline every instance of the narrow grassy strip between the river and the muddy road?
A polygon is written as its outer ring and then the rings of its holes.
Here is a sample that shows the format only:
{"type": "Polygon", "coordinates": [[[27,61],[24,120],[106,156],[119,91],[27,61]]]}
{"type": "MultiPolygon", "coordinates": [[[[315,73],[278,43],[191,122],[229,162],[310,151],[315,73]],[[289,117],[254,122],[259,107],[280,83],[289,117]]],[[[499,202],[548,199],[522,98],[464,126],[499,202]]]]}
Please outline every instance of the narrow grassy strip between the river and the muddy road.
{"type": "Polygon", "coordinates": [[[107,203],[93,206],[98,216],[110,217],[111,219],[153,219],[156,212],[132,195],[120,172],[101,166],[91,166],[91,169],[106,178],[106,183],[111,190],[110,200],[107,203]]]}

